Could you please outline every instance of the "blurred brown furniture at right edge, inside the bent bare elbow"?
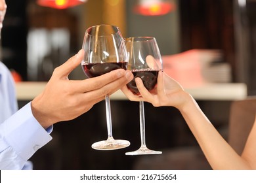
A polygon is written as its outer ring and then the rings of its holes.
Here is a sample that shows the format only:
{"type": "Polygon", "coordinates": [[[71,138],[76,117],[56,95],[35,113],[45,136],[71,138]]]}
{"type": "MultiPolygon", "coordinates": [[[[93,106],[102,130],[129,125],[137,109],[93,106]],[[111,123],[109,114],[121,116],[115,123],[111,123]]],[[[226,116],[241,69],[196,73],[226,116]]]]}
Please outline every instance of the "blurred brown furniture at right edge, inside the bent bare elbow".
{"type": "Polygon", "coordinates": [[[230,107],[228,143],[242,154],[256,114],[256,96],[234,101],[230,107]]]}

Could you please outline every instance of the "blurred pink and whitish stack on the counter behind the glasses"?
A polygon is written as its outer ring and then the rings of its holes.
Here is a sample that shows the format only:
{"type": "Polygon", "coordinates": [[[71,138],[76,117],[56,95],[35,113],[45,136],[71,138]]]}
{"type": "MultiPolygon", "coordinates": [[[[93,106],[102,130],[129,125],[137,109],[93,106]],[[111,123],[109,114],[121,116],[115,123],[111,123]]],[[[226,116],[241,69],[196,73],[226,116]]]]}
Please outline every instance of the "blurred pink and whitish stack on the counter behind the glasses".
{"type": "Polygon", "coordinates": [[[232,82],[231,66],[223,61],[221,50],[192,49],[162,59],[163,71],[184,88],[232,82]]]}

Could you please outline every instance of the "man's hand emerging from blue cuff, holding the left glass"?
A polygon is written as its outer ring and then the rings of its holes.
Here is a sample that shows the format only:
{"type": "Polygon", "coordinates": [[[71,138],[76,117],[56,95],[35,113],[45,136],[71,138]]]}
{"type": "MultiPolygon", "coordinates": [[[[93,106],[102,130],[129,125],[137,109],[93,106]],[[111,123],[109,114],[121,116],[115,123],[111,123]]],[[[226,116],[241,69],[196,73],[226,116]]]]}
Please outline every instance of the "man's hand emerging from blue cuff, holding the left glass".
{"type": "Polygon", "coordinates": [[[80,116],[133,79],[131,71],[117,69],[95,78],[69,80],[68,75],[81,64],[83,53],[80,50],[56,67],[45,90],[33,99],[33,116],[43,127],[80,116]]]}

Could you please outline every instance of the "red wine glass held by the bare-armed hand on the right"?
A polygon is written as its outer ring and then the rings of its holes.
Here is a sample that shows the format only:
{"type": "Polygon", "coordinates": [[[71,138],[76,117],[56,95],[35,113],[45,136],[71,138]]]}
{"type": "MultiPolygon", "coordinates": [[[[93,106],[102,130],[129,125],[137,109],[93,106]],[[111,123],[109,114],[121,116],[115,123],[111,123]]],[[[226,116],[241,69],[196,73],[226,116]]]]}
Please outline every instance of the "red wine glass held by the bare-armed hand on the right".
{"type": "MultiPolygon", "coordinates": [[[[129,37],[125,39],[125,46],[129,62],[127,69],[131,70],[134,78],[127,88],[133,93],[140,95],[135,83],[135,78],[140,77],[145,88],[153,90],[157,84],[158,72],[163,71],[161,54],[154,37],[129,37]]],[[[161,154],[161,151],[150,150],[146,147],[144,103],[139,102],[140,110],[140,139],[141,146],[133,152],[126,152],[126,155],[161,154]]]]}

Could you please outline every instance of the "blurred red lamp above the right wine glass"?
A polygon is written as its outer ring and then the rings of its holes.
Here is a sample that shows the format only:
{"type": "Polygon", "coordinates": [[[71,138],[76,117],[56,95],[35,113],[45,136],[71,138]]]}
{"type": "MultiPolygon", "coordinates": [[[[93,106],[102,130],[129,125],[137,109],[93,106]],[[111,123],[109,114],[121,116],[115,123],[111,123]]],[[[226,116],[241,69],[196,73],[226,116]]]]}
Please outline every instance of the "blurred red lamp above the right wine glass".
{"type": "Polygon", "coordinates": [[[137,5],[134,8],[135,13],[144,16],[164,15],[175,9],[173,3],[154,3],[151,5],[137,5]]]}

